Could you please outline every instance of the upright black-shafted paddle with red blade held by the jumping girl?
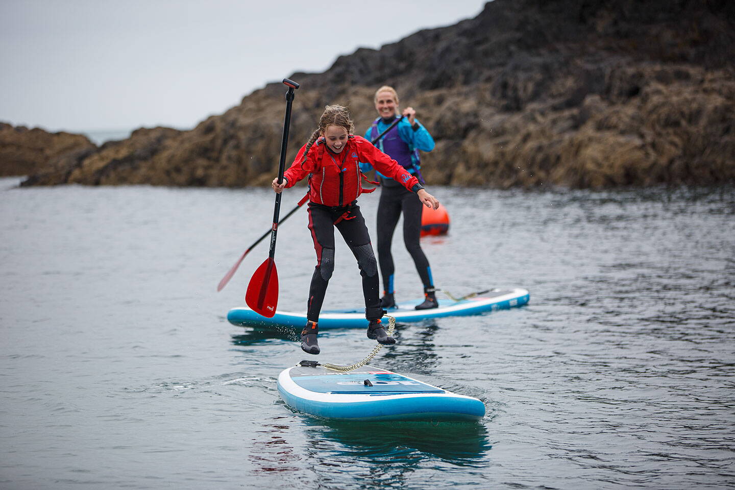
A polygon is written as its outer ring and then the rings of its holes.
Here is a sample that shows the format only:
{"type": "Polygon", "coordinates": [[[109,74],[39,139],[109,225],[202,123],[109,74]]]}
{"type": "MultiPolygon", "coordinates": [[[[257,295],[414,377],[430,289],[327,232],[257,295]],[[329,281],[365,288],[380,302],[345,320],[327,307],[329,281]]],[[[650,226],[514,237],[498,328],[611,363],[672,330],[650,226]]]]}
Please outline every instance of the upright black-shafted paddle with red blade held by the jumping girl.
{"type": "MultiPolygon", "coordinates": [[[[281,140],[281,161],[278,167],[279,184],[283,181],[283,172],[286,164],[286,146],[288,144],[288,128],[291,122],[291,103],[293,102],[293,91],[298,88],[298,83],[289,79],[283,79],[288,87],[286,93],[286,117],[283,123],[283,139],[281,140]]],[[[276,234],[278,232],[278,217],[281,211],[281,194],[276,194],[276,206],[273,209],[273,226],[270,228],[270,252],[268,259],[260,264],[248,284],[245,292],[245,303],[258,314],[264,317],[273,317],[278,305],[278,270],[273,256],[276,255],[276,234]]]]}

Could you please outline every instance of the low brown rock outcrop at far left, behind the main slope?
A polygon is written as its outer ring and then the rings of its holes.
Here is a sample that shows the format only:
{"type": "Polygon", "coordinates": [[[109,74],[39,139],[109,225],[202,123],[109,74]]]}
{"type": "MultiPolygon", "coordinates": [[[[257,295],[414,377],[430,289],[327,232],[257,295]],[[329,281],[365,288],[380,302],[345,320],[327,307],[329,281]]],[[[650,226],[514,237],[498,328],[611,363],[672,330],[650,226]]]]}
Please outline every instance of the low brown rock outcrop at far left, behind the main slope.
{"type": "Polygon", "coordinates": [[[0,176],[31,175],[57,156],[94,148],[82,134],[49,133],[40,128],[0,123],[0,176]]]}

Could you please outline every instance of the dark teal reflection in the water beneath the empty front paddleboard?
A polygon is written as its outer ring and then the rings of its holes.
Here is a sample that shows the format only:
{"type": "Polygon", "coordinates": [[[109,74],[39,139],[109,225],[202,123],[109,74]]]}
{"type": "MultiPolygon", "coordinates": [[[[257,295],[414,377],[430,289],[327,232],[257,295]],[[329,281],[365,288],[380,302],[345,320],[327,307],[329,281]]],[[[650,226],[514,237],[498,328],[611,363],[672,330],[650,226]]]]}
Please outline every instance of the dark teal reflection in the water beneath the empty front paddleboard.
{"type": "MultiPolygon", "coordinates": [[[[465,482],[487,468],[492,448],[478,424],[328,422],[304,417],[306,454],[320,488],[416,488],[417,478],[440,472],[446,484],[465,482]],[[350,475],[349,478],[345,478],[350,475]]],[[[437,481],[437,483],[439,483],[437,481]]],[[[423,488],[436,488],[425,481],[423,488]]]]}

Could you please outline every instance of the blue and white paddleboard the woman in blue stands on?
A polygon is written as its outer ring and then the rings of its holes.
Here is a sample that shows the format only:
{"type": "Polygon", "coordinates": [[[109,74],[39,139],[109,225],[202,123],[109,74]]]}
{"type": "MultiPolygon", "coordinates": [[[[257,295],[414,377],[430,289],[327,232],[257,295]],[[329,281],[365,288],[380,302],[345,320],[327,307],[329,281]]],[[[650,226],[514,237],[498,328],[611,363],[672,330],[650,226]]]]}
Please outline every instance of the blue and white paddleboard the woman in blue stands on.
{"type": "MultiPolygon", "coordinates": [[[[514,306],[523,306],[528,303],[528,291],[526,289],[491,289],[482,295],[464,300],[449,300],[439,298],[439,308],[428,310],[417,310],[414,306],[421,300],[399,303],[398,308],[388,310],[391,317],[395,317],[398,323],[418,322],[431,318],[463,316],[470,314],[481,314],[498,309],[509,309],[514,306]]],[[[292,313],[289,311],[276,311],[272,318],[263,317],[246,306],[233,308],[227,313],[227,320],[233,325],[244,327],[293,327],[304,328],[306,324],[306,313],[292,313]]],[[[323,311],[319,315],[319,329],[324,328],[367,328],[368,320],[365,320],[365,309],[344,309],[323,311]]]]}

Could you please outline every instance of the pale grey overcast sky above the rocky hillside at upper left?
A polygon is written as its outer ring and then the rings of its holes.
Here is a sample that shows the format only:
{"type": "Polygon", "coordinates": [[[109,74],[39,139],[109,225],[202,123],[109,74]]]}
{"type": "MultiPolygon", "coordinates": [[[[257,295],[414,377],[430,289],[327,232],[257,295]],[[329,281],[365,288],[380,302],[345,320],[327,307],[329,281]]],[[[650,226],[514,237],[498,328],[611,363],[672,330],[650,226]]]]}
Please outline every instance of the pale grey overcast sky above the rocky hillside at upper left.
{"type": "Polygon", "coordinates": [[[267,82],[476,16],[484,0],[0,0],[0,121],[187,129],[267,82]]]}

